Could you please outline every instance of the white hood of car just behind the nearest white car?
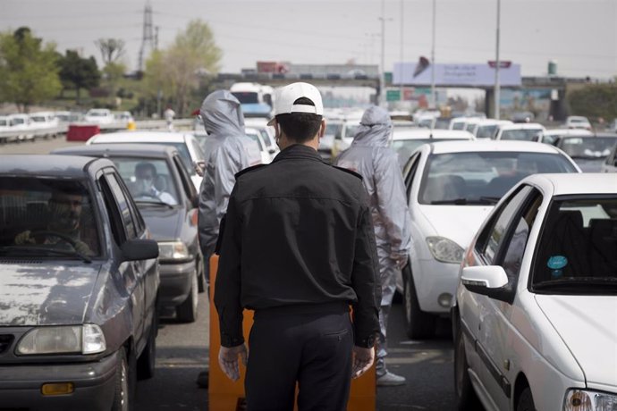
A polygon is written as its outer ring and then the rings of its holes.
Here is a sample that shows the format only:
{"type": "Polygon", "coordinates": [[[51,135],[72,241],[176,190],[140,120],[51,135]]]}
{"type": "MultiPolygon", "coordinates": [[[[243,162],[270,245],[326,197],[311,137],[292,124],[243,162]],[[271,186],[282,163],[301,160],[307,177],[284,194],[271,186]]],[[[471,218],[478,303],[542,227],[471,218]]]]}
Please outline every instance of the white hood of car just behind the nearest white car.
{"type": "Polygon", "coordinates": [[[437,235],[452,239],[467,248],[480,224],[484,222],[493,206],[419,206],[420,213],[431,224],[437,235]]]}

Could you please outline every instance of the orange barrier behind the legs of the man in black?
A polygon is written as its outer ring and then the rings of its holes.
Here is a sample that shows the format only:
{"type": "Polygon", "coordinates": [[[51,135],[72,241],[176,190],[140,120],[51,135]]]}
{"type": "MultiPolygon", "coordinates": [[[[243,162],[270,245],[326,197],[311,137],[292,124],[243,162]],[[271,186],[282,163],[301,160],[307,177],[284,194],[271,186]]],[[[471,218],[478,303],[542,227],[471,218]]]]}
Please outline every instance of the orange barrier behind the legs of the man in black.
{"type": "MultiPolygon", "coordinates": [[[[245,368],[240,367],[241,378],[232,382],[218,366],[218,350],[221,347],[218,315],[214,303],[218,256],[210,258],[210,369],[208,379],[208,409],[210,411],[240,411],[244,404],[245,368]]],[[[253,324],[253,312],[244,310],[242,329],[248,336],[253,324]]],[[[350,400],[347,411],[375,411],[376,382],[375,365],[356,380],[351,381],[350,400]]]]}

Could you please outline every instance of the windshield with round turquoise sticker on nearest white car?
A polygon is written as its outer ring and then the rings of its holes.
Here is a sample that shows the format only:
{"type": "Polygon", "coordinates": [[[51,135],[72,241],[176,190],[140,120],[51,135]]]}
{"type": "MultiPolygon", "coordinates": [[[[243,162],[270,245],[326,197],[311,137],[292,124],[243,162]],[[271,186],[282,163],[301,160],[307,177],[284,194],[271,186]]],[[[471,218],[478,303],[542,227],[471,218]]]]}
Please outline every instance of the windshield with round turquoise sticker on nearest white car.
{"type": "Polygon", "coordinates": [[[531,286],[555,294],[617,294],[617,196],[555,199],[537,241],[531,286]]]}

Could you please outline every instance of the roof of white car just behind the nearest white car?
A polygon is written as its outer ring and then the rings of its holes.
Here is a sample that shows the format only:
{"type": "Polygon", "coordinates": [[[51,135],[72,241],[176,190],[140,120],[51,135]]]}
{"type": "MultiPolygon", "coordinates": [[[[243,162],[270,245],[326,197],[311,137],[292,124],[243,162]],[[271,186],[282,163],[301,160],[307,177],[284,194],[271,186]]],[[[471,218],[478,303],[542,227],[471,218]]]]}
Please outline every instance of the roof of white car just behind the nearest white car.
{"type": "Polygon", "coordinates": [[[467,153],[476,151],[522,151],[528,153],[561,154],[562,152],[548,144],[535,141],[515,140],[473,140],[473,141],[439,141],[430,143],[433,154],[467,153]]]}

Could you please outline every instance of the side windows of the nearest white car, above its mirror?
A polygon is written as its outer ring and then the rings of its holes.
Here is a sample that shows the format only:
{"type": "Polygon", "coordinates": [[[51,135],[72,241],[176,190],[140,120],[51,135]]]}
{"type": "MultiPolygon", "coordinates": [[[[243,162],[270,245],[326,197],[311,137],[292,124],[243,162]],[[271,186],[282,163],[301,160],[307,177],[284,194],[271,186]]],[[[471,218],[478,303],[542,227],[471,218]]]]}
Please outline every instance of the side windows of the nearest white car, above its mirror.
{"type": "MultiPolygon", "coordinates": [[[[483,233],[480,234],[479,240],[476,243],[476,248],[478,254],[484,257],[486,264],[498,264],[496,257],[498,256],[500,247],[502,247],[503,244],[507,245],[507,240],[509,239],[507,235],[508,227],[512,220],[514,220],[514,216],[520,209],[520,206],[528,199],[529,193],[532,190],[531,187],[524,186],[513,193],[508,201],[505,201],[501,208],[493,214],[493,223],[488,224],[483,233]]],[[[519,222],[517,222],[517,225],[518,224],[519,222]]],[[[520,231],[520,237],[517,239],[518,241],[524,236],[525,242],[527,242],[528,231],[526,235],[523,235],[526,230],[526,224],[527,222],[521,222],[520,230],[519,227],[517,227],[517,230],[520,231]]],[[[520,247],[520,243],[512,245],[512,247],[520,247]]],[[[510,259],[516,259],[516,254],[517,251],[513,249],[510,259]]]]}

